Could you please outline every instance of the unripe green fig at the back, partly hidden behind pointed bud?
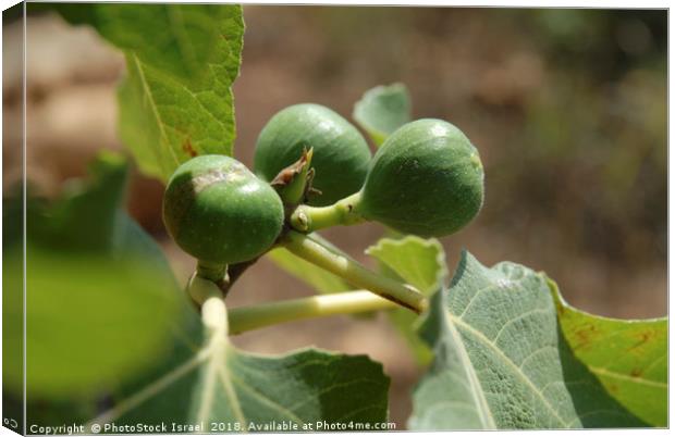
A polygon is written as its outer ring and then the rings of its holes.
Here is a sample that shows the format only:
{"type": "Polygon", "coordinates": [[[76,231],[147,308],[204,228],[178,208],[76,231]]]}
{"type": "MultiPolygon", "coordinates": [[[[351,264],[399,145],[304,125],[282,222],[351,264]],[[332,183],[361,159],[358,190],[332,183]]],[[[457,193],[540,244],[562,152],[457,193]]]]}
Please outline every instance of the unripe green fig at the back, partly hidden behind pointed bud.
{"type": "Polygon", "coordinates": [[[254,171],[271,182],[296,162],[305,148],[314,149],[312,186],[321,191],[309,199],[309,204],[331,204],[359,190],[368,172],[370,149],[356,127],[319,104],[295,104],[272,116],[258,137],[254,171]]]}

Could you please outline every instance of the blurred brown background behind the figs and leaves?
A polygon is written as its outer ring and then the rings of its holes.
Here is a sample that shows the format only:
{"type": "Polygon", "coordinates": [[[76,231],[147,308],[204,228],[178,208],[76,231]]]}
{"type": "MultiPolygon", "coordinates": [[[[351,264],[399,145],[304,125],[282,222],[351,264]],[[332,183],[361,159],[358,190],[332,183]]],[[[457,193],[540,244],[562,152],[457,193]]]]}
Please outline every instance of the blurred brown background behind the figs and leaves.
{"type": "MultiPolygon", "coordinates": [[[[445,118],[478,147],[486,207],[443,240],[454,269],[462,248],[483,263],[545,271],[565,298],[593,313],[666,313],[666,13],[664,11],[245,7],[235,85],[235,155],[250,165],[258,132],[280,109],[317,102],[351,115],[361,93],[405,83],[415,117],[445,118]]],[[[16,24],[16,23],[15,23],[16,24]]],[[[53,15],[27,27],[28,173],[47,195],[82,176],[115,136],[120,54],[88,28],[53,15]]],[[[5,48],[21,27],[5,33],[5,48]]],[[[5,63],[4,123],[21,117],[21,71],[5,63]]],[[[4,182],[16,177],[21,137],[4,129],[4,182]]],[[[192,260],[163,232],[159,183],[134,175],[128,208],[167,249],[180,282],[192,260]]],[[[363,250],[376,225],[326,235],[363,250]]],[[[307,296],[311,289],[258,263],[232,305],[307,296]]],[[[392,376],[392,417],[404,426],[419,370],[383,317],[332,317],[236,339],[279,352],[317,345],[368,353],[392,376]]]]}

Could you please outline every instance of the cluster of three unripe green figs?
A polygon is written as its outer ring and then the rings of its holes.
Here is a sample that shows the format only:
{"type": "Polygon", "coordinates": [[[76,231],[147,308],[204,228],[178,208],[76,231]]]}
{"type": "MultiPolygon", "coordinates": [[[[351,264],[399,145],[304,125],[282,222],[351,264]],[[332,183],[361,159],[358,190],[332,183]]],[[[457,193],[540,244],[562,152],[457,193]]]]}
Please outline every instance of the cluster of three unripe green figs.
{"type": "Polygon", "coordinates": [[[307,221],[323,217],[318,227],[376,221],[440,237],[466,226],[483,202],[478,151],[457,127],[434,118],[400,127],[372,157],[345,118],[319,104],[296,104],[260,132],[254,172],[224,155],[179,166],[167,186],[163,218],[183,250],[211,264],[249,261],[274,245],[284,223],[298,229],[292,217],[297,211],[307,221]],[[308,149],[308,183],[320,195],[290,211],[269,183],[308,149]]]}

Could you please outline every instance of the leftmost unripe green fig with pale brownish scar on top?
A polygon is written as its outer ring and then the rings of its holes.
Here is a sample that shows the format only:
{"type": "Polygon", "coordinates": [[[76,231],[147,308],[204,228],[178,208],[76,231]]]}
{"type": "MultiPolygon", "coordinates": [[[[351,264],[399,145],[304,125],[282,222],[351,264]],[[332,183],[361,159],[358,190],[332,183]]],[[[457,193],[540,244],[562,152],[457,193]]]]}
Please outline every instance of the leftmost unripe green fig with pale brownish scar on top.
{"type": "Polygon", "coordinates": [[[201,155],[169,179],[163,220],[175,242],[208,263],[249,261],[269,249],[283,224],[281,199],[241,162],[201,155]]]}

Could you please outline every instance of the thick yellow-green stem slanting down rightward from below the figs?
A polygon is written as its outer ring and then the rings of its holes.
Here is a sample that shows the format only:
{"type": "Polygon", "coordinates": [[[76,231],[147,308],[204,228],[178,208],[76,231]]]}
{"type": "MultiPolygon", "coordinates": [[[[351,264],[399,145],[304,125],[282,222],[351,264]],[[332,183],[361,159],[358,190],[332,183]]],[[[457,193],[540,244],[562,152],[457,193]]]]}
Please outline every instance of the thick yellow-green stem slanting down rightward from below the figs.
{"type": "Polygon", "coordinates": [[[297,257],[341,276],[353,286],[372,291],[418,314],[428,307],[427,298],[413,286],[380,276],[356,260],[336,252],[310,236],[290,230],[283,236],[280,245],[297,257]]]}

